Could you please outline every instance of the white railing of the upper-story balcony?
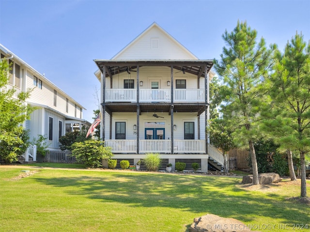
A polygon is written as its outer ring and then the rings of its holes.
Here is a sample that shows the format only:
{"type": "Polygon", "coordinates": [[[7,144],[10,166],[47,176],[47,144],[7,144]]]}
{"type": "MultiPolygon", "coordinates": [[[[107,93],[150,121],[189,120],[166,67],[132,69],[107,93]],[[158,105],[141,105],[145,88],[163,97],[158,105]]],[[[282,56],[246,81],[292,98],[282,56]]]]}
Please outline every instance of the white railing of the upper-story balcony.
{"type": "MultiPolygon", "coordinates": [[[[140,102],[171,102],[171,89],[140,89],[140,102]]],[[[204,102],[204,89],[174,89],[174,102],[204,102]]],[[[106,89],[106,102],[137,102],[137,89],[106,89]]]]}

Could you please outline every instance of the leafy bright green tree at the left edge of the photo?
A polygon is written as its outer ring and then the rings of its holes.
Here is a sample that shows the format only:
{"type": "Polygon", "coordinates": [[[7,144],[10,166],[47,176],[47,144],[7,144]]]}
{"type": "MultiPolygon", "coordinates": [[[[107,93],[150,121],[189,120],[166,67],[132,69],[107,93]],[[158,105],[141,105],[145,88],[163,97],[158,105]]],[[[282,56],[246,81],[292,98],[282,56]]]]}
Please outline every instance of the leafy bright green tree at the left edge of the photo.
{"type": "Polygon", "coordinates": [[[33,108],[29,107],[26,99],[30,90],[21,92],[15,97],[15,89],[7,88],[9,79],[9,64],[7,59],[0,60],[0,156],[7,162],[18,160],[29,143],[28,132],[22,123],[29,118],[33,108]]]}

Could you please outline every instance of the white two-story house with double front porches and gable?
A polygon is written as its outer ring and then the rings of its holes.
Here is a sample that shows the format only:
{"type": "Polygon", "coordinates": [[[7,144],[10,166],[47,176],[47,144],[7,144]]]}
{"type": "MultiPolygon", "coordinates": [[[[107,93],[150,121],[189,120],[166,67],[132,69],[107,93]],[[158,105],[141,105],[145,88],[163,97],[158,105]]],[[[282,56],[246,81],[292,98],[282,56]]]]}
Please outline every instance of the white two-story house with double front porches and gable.
{"type": "Polygon", "coordinates": [[[161,169],[182,161],[190,170],[198,162],[202,172],[209,158],[222,164],[205,132],[212,60],[198,59],[153,23],[113,58],[94,62],[102,139],[115,159],[135,165],[147,153],[160,153],[161,169]]]}

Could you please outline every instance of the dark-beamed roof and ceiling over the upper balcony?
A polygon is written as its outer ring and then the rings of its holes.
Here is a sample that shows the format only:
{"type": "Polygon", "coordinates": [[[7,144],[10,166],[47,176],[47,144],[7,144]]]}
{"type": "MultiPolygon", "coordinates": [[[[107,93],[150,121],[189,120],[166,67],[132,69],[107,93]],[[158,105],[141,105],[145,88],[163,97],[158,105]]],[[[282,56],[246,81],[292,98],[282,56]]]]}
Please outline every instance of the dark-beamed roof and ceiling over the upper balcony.
{"type": "Polygon", "coordinates": [[[118,73],[130,73],[132,70],[137,70],[137,66],[173,66],[173,69],[191,73],[198,77],[205,75],[205,68],[207,73],[213,66],[212,60],[103,60],[94,59],[94,62],[103,73],[103,68],[106,69],[106,77],[118,73]]]}

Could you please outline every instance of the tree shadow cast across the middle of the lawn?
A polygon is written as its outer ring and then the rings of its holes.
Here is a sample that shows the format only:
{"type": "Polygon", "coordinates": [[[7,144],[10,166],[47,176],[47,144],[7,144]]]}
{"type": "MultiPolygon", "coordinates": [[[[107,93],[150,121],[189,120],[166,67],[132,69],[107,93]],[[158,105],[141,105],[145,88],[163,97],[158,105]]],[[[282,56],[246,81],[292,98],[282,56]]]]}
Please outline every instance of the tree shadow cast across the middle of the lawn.
{"type": "Polygon", "coordinates": [[[280,223],[310,221],[309,206],[287,202],[277,193],[239,188],[241,180],[238,178],[106,172],[34,179],[63,188],[68,194],[126,203],[131,207],[178,208],[199,213],[199,216],[203,212],[233,217],[245,223],[255,221],[255,217],[279,218],[280,223]]]}

